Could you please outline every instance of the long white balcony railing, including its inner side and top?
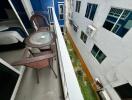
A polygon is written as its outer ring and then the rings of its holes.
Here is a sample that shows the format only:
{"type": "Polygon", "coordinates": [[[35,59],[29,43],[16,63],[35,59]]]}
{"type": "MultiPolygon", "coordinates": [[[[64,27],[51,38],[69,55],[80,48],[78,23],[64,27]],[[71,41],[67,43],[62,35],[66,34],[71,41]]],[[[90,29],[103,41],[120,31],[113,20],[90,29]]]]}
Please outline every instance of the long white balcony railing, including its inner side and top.
{"type": "Polygon", "coordinates": [[[57,35],[56,41],[57,41],[57,49],[58,49],[58,59],[59,59],[65,100],[84,100],[77,81],[77,77],[75,75],[70,60],[69,53],[67,51],[64,38],[62,36],[62,32],[54,8],[52,8],[52,12],[53,12],[55,32],[57,35]]]}

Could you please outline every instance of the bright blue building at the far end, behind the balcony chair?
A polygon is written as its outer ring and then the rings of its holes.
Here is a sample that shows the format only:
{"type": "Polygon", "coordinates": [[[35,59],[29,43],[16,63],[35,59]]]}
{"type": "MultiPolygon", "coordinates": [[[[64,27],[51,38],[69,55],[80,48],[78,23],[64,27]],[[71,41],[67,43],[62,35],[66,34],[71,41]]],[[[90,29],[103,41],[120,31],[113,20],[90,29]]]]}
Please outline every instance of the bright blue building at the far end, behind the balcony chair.
{"type": "Polygon", "coordinates": [[[50,23],[53,22],[53,16],[51,14],[51,7],[54,7],[62,33],[63,33],[63,30],[64,30],[64,0],[30,0],[30,1],[31,1],[33,10],[35,12],[41,12],[47,17],[49,17],[50,23]]]}

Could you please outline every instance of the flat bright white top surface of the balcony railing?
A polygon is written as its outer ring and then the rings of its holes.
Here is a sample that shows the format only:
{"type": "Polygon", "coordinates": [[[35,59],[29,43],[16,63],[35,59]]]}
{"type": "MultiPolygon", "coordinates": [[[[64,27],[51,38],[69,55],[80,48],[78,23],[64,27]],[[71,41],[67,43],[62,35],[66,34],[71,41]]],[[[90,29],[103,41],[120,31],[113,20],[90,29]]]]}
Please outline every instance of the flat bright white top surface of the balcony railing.
{"type": "Polygon", "coordinates": [[[54,18],[58,46],[60,48],[60,55],[62,57],[63,66],[60,66],[60,67],[63,67],[64,69],[65,81],[66,81],[67,89],[68,89],[68,96],[70,100],[84,100],[79,84],[78,84],[77,77],[75,75],[75,71],[73,69],[73,65],[70,60],[69,53],[67,51],[64,38],[61,33],[61,29],[60,29],[54,8],[52,8],[52,10],[53,10],[53,18],[54,18]]]}

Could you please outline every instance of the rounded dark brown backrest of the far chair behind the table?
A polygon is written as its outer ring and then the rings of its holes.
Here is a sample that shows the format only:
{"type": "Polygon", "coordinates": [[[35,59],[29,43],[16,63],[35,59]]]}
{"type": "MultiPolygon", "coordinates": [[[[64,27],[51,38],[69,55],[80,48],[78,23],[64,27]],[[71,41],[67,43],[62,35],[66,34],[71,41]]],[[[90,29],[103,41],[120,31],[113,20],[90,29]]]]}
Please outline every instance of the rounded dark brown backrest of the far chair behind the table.
{"type": "Polygon", "coordinates": [[[32,15],[30,21],[33,25],[35,23],[38,29],[40,27],[50,27],[47,18],[41,13],[35,13],[34,15],[32,15]]]}

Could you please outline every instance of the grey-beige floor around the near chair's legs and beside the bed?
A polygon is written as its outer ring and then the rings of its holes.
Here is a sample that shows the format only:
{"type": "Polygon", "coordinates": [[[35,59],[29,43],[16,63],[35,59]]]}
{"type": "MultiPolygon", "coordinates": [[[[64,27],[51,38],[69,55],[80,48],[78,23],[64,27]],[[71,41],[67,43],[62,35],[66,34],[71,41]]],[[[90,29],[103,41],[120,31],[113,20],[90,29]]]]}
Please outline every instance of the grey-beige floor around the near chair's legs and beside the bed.
{"type": "MultiPolygon", "coordinates": [[[[0,53],[0,57],[10,63],[15,59],[19,59],[22,52],[23,50],[4,52],[0,53]]],[[[39,70],[39,84],[37,84],[35,71],[31,68],[27,68],[15,100],[64,100],[59,68],[57,60],[55,59],[53,68],[58,78],[56,79],[52,70],[47,67],[39,70]]]]}

